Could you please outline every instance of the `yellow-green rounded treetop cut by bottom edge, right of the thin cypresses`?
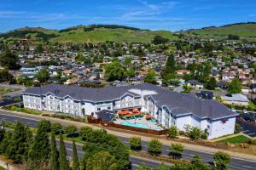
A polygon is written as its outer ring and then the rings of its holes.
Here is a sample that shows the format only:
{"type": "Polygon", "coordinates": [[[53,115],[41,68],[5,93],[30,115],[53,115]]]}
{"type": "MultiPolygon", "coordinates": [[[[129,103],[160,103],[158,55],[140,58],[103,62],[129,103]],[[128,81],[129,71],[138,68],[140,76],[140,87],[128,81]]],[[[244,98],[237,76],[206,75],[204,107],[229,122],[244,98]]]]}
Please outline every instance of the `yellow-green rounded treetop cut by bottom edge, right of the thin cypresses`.
{"type": "Polygon", "coordinates": [[[87,169],[92,170],[118,170],[114,156],[111,156],[108,151],[97,152],[90,161],[87,161],[87,169]]]}

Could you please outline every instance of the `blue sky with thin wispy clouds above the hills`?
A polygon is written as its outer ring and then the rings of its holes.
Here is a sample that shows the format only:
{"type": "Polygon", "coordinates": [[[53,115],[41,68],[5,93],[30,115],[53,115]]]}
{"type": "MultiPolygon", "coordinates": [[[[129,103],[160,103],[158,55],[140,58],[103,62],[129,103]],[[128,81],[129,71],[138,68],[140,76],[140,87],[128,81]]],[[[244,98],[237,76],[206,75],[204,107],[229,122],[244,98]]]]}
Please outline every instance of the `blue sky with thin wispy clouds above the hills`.
{"type": "Polygon", "coordinates": [[[247,21],[256,21],[255,0],[0,0],[0,32],[90,24],[178,31],[247,21]]]}

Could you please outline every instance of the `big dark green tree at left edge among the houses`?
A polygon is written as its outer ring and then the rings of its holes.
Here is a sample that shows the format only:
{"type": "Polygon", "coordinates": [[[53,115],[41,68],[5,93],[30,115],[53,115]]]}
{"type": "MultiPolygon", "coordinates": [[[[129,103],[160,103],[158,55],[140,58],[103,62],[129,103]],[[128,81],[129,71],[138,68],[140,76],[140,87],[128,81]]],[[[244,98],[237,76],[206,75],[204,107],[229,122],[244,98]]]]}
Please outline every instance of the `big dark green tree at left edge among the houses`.
{"type": "Polygon", "coordinates": [[[0,54],[0,65],[10,70],[19,70],[19,57],[11,51],[6,50],[0,54]]]}

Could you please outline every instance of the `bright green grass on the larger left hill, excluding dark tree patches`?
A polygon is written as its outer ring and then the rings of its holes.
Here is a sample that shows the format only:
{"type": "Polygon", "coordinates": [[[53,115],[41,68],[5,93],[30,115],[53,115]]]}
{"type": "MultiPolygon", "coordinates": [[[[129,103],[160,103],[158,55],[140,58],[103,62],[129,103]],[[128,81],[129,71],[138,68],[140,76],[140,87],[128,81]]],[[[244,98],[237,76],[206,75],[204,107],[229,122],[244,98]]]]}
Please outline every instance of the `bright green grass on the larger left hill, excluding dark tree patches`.
{"type": "MultiPolygon", "coordinates": [[[[123,28],[109,29],[96,28],[93,31],[84,31],[84,26],[78,26],[70,31],[56,31],[44,28],[21,28],[18,31],[40,31],[44,34],[55,34],[57,37],[49,39],[50,42],[151,42],[154,36],[167,37],[171,40],[177,39],[171,31],[146,31],[146,30],[130,30],[123,28]]],[[[36,38],[38,33],[28,33],[31,38],[36,38]]],[[[26,35],[27,36],[27,35],[26,35]]],[[[14,37],[15,38],[15,37],[14,37]]]]}

